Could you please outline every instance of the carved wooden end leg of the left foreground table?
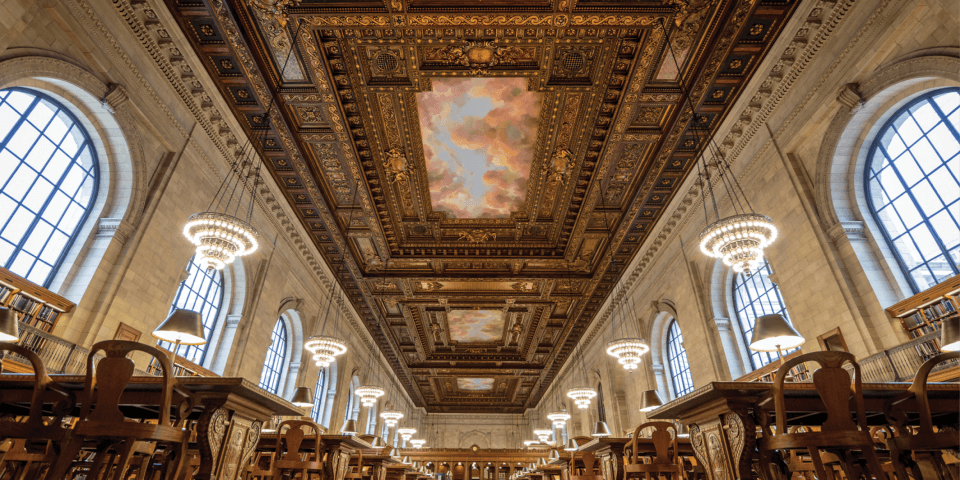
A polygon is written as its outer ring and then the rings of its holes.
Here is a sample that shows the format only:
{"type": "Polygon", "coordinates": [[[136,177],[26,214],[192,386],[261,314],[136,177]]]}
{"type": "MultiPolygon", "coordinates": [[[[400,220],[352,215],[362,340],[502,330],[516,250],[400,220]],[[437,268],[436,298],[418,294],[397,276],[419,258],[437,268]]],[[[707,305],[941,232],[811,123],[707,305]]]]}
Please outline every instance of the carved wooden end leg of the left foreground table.
{"type": "MultiPolygon", "coordinates": [[[[210,406],[197,423],[200,469],[197,480],[237,480],[260,440],[263,422],[210,406]]],[[[341,477],[342,478],[342,477],[341,477]]]]}

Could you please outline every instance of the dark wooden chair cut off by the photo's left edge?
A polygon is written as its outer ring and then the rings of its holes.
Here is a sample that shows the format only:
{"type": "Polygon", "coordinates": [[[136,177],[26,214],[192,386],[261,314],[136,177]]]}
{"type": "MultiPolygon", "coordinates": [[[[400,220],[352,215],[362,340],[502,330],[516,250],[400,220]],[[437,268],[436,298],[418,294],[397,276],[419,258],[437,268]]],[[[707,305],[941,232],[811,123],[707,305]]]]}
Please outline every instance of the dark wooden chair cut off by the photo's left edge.
{"type": "MultiPolygon", "coordinates": [[[[51,380],[43,361],[27,348],[0,343],[0,352],[25,358],[33,367],[34,379],[29,414],[0,421],[0,442],[12,440],[10,449],[0,456],[0,479],[39,478],[42,470],[56,460],[70,432],[63,417],[73,410],[76,397],[51,380]],[[47,416],[44,415],[46,405],[52,405],[47,416]]],[[[3,391],[0,391],[0,403],[3,403],[3,391]]]]}

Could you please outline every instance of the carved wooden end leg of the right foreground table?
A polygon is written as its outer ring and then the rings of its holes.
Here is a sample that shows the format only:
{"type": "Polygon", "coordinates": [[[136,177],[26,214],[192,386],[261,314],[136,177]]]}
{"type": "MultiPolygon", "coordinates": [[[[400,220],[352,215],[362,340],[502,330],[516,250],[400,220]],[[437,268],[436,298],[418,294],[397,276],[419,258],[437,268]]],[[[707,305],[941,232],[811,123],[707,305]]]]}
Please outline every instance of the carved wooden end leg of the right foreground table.
{"type": "Polygon", "coordinates": [[[690,442],[711,480],[753,478],[756,427],[746,411],[690,425],[690,442]]]}

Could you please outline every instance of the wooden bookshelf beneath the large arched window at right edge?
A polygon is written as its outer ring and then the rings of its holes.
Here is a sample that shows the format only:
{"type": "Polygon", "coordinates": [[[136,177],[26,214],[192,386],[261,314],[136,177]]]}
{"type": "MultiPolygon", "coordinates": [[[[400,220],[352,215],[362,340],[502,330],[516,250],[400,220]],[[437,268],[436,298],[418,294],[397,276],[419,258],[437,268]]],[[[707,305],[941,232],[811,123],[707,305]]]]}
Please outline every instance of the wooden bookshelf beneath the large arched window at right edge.
{"type": "MultiPolygon", "coordinates": [[[[960,312],[958,294],[960,294],[960,275],[897,302],[887,308],[887,313],[900,320],[900,325],[910,338],[922,337],[939,331],[942,320],[960,314],[958,313],[960,312]]],[[[933,343],[936,351],[931,350],[927,353],[936,355],[940,353],[940,342],[936,340],[933,343]]]]}

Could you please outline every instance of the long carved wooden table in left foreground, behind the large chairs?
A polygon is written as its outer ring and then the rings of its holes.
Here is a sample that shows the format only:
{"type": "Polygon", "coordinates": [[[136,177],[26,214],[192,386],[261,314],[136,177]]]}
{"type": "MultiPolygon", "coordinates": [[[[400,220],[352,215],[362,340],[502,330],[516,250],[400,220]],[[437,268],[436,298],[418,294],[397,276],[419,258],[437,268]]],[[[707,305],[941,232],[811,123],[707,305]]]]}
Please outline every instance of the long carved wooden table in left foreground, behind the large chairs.
{"type": "MultiPolygon", "coordinates": [[[[50,375],[50,378],[74,392],[78,405],[88,402],[83,375],[50,375]]],[[[304,414],[290,402],[243,378],[178,377],[177,381],[195,400],[188,418],[197,421],[200,469],[194,478],[198,480],[240,478],[242,465],[250,460],[263,423],[274,415],[304,414]]],[[[149,405],[148,399],[155,399],[161,388],[160,377],[131,378],[120,396],[124,415],[157,418],[156,406],[149,405]]],[[[4,412],[28,410],[32,395],[33,375],[0,375],[0,409],[4,412]]]]}

